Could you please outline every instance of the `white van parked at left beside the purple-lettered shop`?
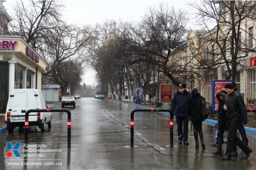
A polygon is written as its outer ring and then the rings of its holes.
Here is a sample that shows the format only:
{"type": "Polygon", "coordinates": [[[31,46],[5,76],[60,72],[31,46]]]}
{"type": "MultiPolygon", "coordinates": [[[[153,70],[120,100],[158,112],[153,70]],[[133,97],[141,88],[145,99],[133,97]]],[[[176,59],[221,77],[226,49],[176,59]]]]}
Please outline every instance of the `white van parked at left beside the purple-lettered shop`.
{"type": "MultiPolygon", "coordinates": [[[[46,108],[48,107],[40,90],[34,88],[12,90],[5,113],[7,130],[13,132],[15,127],[20,127],[19,131],[22,131],[23,126],[25,126],[25,113],[27,110],[46,108]]],[[[39,126],[41,131],[44,131],[46,123],[48,128],[52,126],[51,112],[31,112],[29,114],[29,126],[39,126]]]]}

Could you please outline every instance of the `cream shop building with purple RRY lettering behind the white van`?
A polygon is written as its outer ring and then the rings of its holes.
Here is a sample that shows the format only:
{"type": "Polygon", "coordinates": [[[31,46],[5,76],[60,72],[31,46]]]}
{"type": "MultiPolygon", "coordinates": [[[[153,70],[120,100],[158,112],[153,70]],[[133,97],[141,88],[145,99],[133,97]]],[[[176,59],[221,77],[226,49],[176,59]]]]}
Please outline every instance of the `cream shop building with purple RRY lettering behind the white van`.
{"type": "Polygon", "coordinates": [[[13,89],[41,90],[46,62],[20,36],[0,36],[0,112],[5,112],[13,89]]]}

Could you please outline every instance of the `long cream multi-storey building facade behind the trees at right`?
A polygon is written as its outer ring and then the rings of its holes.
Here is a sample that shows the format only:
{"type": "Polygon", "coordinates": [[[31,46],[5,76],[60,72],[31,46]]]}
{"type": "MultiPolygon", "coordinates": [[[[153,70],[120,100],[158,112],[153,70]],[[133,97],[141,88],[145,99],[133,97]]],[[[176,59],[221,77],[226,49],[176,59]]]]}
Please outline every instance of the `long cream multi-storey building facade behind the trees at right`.
{"type": "MultiPolygon", "coordinates": [[[[239,7],[240,1],[236,1],[239,7]]],[[[249,3],[254,3],[249,2],[249,3]]],[[[249,5],[249,4],[248,4],[249,5]]],[[[247,8],[246,8],[247,9],[247,8]]],[[[221,8],[220,24],[211,30],[190,30],[187,46],[172,53],[174,63],[180,64],[177,77],[181,82],[193,85],[208,104],[212,104],[212,80],[226,80],[231,66],[231,15],[226,7],[221,8]],[[192,80],[192,75],[194,77],[192,80]],[[183,76],[183,78],[181,78],[183,76]]],[[[253,17],[236,18],[234,53],[236,59],[236,84],[248,108],[256,105],[256,41],[253,17]],[[239,20],[240,19],[240,20],[239,20]]],[[[248,15],[249,16],[249,15],[248,15]]]]}

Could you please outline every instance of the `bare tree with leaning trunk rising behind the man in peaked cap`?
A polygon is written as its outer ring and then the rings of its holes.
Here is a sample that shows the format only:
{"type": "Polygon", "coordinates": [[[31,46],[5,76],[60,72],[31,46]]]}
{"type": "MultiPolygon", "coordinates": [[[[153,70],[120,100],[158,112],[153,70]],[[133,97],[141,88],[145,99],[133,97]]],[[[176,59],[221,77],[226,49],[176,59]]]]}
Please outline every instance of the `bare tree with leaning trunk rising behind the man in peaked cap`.
{"type": "Polygon", "coordinates": [[[163,4],[158,9],[150,8],[142,21],[133,27],[131,32],[131,43],[129,48],[133,54],[140,58],[133,62],[153,63],[159,71],[165,74],[172,82],[178,85],[174,78],[180,73],[180,66],[170,65],[173,51],[185,46],[185,29],[187,16],[184,11],[176,11],[174,7],[169,8],[163,4]]]}

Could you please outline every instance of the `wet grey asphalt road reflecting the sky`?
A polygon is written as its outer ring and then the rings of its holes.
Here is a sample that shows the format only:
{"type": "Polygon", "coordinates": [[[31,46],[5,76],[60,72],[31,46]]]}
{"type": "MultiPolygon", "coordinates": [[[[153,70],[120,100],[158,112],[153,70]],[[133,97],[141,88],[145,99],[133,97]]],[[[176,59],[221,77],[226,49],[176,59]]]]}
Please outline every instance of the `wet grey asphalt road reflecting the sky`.
{"type": "MultiPolygon", "coordinates": [[[[212,126],[203,124],[206,150],[202,147],[196,150],[192,123],[189,123],[189,145],[180,145],[174,119],[174,147],[169,147],[169,114],[136,112],[135,147],[130,148],[130,113],[135,107],[113,100],[77,99],[75,108],[65,107],[71,111],[71,149],[67,149],[65,112],[53,113],[52,129],[30,130],[29,144],[41,146],[29,147],[29,153],[23,151],[24,133],[18,133],[18,129],[13,134],[6,131],[0,135],[0,169],[256,169],[256,138],[251,135],[248,135],[253,150],[250,158],[243,159],[244,154],[238,148],[237,157],[221,161],[221,156],[211,154],[216,149],[210,145],[212,126]],[[6,157],[7,142],[13,146],[22,143],[18,150],[21,158],[15,158],[14,154],[6,157]],[[14,163],[19,165],[10,165],[14,163]],[[42,165],[36,165],[39,163],[42,165]]],[[[226,144],[222,148],[225,151],[226,144]]]]}

